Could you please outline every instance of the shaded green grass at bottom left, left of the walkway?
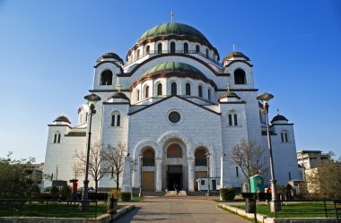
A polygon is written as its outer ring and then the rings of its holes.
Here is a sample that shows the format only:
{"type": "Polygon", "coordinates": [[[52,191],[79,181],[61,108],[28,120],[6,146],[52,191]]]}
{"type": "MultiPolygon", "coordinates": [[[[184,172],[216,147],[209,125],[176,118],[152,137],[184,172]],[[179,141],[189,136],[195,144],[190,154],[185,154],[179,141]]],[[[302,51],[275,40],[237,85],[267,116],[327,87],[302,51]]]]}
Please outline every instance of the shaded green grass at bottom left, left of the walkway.
{"type": "MultiPolygon", "coordinates": [[[[118,209],[122,208],[118,205],[118,209]]],[[[107,213],[107,205],[98,203],[97,207],[91,204],[88,211],[81,211],[79,203],[66,202],[25,202],[23,205],[0,207],[1,217],[53,217],[53,218],[83,218],[91,219],[107,213]]]]}

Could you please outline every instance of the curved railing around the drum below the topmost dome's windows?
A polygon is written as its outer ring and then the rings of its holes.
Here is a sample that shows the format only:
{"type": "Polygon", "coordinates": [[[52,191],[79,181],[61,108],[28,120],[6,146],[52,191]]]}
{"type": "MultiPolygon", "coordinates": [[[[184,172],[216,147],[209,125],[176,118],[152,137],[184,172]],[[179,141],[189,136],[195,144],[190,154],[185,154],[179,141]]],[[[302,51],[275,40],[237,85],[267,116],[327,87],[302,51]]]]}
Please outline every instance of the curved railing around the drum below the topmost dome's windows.
{"type": "Polygon", "coordinates": [[[218,64],[220,66],[222,66],[221,63],[219,63],[219,61],[215,60],[214,58],[210,57],[210,56],[206,56],[205,54],[201,53],[200,51],[197,50],[150,50],[150,51],[146,51],[144,52],[144,54],[137,56],[136,58],[134,58],[133,61],[128,61],[127,64],[134,64],[137,60],[143,58],[144,56],[154,56],[154,55],[162,55],[162,54],[170,54],[170,55],[191,55],[191,54],[197,54],[199,56],[203,56],[205,57],[207,60],[213,62],[214,64],[218,64]]]}

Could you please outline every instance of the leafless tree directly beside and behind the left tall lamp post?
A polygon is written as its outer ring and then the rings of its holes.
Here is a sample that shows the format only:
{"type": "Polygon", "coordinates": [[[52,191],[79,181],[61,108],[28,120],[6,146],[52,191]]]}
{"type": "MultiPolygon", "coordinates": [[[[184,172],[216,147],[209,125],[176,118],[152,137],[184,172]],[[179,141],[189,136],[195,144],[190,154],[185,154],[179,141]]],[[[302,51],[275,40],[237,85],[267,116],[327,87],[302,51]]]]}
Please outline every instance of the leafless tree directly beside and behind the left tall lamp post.
{"type": "MultiPolygon", "coordinates": [[[[84,151],[75,151],[75,157],[80,160],[77,165],[80,172],[85,173],[86,153],[84,151]]],[[[89,153],[89,175],[95,181],[95,190],[98,190],[98,182],[103,176],[106,176],[109,172],[109,165],[101,154],[100,143],[95,143],[90,148],[89,153]]]]}

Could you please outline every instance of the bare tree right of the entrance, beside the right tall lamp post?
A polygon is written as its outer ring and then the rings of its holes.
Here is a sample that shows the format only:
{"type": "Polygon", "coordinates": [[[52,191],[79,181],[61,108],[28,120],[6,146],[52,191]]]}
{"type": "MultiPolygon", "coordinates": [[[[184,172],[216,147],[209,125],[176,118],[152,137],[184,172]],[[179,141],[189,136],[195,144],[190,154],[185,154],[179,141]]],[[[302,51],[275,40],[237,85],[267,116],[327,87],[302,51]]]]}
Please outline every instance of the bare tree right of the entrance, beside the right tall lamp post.
{"type": "Polygon", "coordinates": [[[251,176],[262,173],[266,178],[267,163],[264,159],[264,150],[254,140],[240,139],[240,142],[232,147],[228,153],[232,163],[240,167],[241,172],[248,180],[251,176]]]}

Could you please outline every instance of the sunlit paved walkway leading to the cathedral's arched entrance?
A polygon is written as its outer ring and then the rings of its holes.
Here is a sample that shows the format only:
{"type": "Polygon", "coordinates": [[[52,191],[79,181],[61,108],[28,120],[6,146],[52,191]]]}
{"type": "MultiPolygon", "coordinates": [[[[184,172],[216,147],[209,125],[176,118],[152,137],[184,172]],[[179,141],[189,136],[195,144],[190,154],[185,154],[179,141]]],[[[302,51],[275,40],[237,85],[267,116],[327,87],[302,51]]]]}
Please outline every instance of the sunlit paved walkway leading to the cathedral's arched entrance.
{"type": "Polygon", "coordinates": [[[136,209],[115,222],[232,222],[249,223],[248,220],[217,208],[217,202],[200,199],[146,198],[134,202],[136,209]]]}

